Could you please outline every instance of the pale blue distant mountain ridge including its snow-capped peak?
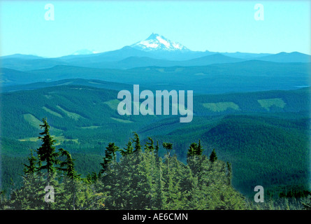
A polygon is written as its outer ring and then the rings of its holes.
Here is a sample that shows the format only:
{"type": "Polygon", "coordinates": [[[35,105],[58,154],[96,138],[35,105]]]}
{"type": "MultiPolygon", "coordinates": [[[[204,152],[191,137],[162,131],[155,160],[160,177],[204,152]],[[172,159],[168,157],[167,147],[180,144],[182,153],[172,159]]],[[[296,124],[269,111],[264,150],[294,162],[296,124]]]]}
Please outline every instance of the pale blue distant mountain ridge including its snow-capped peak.
{"type": "Polygon", "coordinates": [[[57,65],[82,66],[94,69],[132,69],[142,66],[207,66],[261,60],[279,63],[308,63],[311,56],[301,52],[247,53],[192,51],[181,43],[170,41],[159,34],[151,34],[144,41],[118,50],[94,52],[78,50],[72,55],[46,58],[35,55],[7,55],[0,57],[1,67],[17,71],[48,69],[57,65]]]}

